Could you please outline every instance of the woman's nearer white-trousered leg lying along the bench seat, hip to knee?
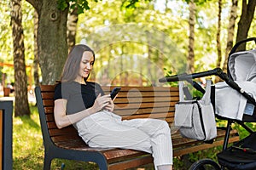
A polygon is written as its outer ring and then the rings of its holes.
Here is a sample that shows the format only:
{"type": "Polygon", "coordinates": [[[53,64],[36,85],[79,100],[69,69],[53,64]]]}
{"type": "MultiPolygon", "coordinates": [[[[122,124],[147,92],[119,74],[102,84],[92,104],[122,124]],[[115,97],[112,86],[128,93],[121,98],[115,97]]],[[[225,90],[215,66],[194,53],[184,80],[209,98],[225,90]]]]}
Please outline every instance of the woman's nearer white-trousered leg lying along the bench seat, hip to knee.
{"type": "Polygon", "coordinates": [[[120,119],[98,114],[77,124],[79,135],[90,147],[123,148],[152,153],[147,133],[122,124],[120,119]]]}

